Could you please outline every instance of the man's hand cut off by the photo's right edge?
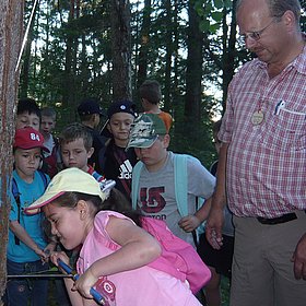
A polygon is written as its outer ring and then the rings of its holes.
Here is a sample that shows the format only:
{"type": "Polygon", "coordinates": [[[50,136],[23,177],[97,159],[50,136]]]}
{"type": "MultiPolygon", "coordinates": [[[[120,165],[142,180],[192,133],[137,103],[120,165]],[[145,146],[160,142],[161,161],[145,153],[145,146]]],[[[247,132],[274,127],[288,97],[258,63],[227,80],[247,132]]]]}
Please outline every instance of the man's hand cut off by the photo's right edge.
{"type": "Polygon", "coordinates": [[[294,262],[294,275],[306,281],[306,234],[299,239],[291,259],[294,262]]]}

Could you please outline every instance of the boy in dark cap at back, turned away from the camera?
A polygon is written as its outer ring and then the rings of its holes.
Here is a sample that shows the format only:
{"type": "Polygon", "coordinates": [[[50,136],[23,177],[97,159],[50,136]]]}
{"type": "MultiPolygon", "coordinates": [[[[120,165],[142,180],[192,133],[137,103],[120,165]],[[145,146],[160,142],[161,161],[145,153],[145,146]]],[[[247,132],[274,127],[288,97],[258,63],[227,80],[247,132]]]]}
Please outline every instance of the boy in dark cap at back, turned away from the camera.
{"type": "Polygon", "coordinates": [[[89,164],[101,173],[98,166],[98,152],[102,148],[104,148],[106,138],[101,136],[96,128],[99,125],[101,116],[103,116],[102,108],[95,98],[85,98],[79,105],[78,114],[80,116],[81,123],[90,130],[93,137],[94,153],[89,160],[89,164]]]}

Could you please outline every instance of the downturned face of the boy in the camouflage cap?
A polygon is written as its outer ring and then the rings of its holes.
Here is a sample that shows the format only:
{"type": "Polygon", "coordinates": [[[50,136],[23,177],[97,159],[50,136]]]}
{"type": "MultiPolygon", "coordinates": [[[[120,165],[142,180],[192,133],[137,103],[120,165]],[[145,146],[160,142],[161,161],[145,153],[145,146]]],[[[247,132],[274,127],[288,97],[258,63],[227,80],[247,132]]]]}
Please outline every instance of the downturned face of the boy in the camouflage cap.
{"type": "Polygon", "coordinates": [[[134,152],[138,158],[146,166],[149,170],[158,169],[167,156],[169,136],[157,140],[150,148],[136,148],[134,152]]]}

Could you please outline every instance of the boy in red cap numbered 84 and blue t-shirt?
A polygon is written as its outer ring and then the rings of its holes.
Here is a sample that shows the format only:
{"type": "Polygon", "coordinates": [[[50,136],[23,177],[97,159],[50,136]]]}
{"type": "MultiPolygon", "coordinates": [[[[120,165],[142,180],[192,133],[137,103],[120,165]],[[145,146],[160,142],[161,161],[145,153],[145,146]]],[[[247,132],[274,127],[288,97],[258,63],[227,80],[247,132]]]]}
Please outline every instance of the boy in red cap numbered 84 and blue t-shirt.
{"type": "MultiPolygon", "coordinates": [[[[44,137],[28,127],[15,132],[13,155],[12,208],[8,244],[8,274],[26,274],[48,269],[48,251],[55,245],[47,245],[42,228],[43,214],[27,216],[24,208],[32,204],[45,191],[49,177],[37,169],[42,161],[44,137]],[[16,191],[17,190],[17,191],[16,191]]],[[[11,306],[47,305],[48,280],[11,279],[8,282],[5,302],[11,306]]],[[[7,305],[5,304],[5,305],[7,305]]]]}

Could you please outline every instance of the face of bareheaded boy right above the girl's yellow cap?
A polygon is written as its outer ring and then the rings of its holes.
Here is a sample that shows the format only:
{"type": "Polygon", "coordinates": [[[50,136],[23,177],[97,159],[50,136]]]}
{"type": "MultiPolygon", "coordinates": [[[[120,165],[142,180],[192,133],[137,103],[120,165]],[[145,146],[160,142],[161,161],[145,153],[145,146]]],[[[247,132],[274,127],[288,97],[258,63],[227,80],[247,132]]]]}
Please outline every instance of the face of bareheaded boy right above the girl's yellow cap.
{"type": "Polygon", "coordinates": [[[84,140],[78,138],[70,142],[61,143],[62,162],[67,168],[76,167],[81,170],[87,170],[87,161],[92,156],[94,149],[87,151],[84,146],[84,140]]]}

